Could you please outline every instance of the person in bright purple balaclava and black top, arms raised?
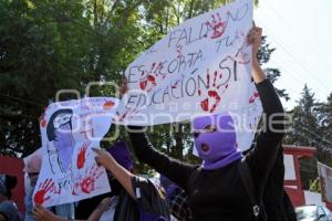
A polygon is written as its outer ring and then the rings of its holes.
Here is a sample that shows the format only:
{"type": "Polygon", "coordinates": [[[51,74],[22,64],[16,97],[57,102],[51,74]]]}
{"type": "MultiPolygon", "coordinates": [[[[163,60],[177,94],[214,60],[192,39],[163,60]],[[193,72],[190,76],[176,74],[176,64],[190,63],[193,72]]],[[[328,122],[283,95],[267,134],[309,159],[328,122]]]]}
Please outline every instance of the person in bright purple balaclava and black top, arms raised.
{"type": "Polygon", "coordinates": [[[257,59],[261,32],[260,28],[253,27],[248,33],[248,43],[252,45],[252,78],[262,103],[268,127],[259,134],[255,150],[245,159],[237,149],[234,119],[227,113],[194,119],[195,146],[203,159],[203,164],[198,166],[180,162],[157,151],[147,136],[142,133],[142,127],[129,127],[129,137],[138,159],[186,191],[194,220],[263,219],[256,217],[257,211],[253,211],[238,170],[239,164],[245,160],[251,172],[256,192],[262,192],[283,137],[282,105],[257,59]]]}

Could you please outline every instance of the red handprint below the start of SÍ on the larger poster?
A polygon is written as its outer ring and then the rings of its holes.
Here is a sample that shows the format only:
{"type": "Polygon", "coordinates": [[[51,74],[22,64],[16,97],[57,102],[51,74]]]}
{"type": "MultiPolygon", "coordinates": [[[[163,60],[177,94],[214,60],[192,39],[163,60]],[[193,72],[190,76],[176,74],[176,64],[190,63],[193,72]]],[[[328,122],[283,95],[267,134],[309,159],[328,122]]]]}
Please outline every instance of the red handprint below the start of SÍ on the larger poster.
{"type": "MultiPolygon", "coordinates": [[[[216,108],[218,107],[220,101],[221,101],[221,97],[220,97],[220,87],[224,85],[224,84],[220,84],[220,85],[217,85],[217,78],[222,78],[222,73],[218,73],[217,71],[215,71],[214,73],[214,83],[212,85],[210,85],[210,73],[209,73],[209,70],[207,71],[207,98],[203,99],[200,102],[200,107],[204,112],[210,112],[210,113],[214,113],[216,110],[216,108]],[[209,99],[214,99],[215,102],[210,105],[209,103],[209,99]]],[[[228,84],[225,85],[225,90],[222,91],[222,93],[228,88],[228,84]]],[[[198,90],[198,95],[201,96],[201,91],[198,90]]]]}

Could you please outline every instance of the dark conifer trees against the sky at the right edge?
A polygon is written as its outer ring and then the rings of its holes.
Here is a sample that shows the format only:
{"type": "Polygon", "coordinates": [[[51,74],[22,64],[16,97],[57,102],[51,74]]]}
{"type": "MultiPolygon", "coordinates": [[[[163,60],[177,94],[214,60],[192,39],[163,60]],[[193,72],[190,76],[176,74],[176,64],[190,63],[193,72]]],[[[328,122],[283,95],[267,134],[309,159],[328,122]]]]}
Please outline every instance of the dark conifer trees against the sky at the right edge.
{"type": "Polygon", "coordinates": [[[331,95],[326,103],[319,103],[305,84],[298,105],[289,113],[292,130],[287,134],[284,143],[317,149],[314,158],[301,160],[300,171],[305,189],[318,177],[317,161],[332,165],[331,110],[331,95]]]}

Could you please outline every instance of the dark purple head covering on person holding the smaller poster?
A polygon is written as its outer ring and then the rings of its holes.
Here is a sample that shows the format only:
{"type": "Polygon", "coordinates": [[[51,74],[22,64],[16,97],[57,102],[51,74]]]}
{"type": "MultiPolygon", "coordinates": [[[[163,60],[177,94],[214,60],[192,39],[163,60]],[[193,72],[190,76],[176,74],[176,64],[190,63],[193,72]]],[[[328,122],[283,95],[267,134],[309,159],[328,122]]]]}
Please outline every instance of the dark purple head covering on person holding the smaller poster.
{"type": "Polygon", "coordinates": [[[113,146],[106,148],[106,150],[114,157],[114,159],[127,170],[134,168],[133,158],[128,150],[128,147],[124,141],[117,141],[113,146]]]}

